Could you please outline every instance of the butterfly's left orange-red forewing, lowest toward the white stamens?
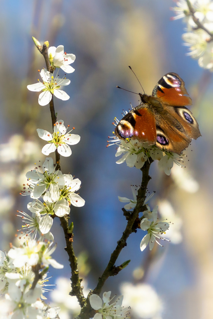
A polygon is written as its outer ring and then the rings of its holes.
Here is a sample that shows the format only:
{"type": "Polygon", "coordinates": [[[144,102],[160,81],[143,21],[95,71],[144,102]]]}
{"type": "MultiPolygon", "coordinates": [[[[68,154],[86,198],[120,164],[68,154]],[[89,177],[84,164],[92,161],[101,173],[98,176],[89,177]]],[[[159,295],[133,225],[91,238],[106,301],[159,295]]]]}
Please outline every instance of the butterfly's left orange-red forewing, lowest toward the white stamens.
{"type": "Polygon", "coordinates": [[[118,123],[115,135],[119,139],[137,139],[148,145],[154,145],[157,141],[156,122],[153,108],[144,103],[133,108],[118,123]]]}

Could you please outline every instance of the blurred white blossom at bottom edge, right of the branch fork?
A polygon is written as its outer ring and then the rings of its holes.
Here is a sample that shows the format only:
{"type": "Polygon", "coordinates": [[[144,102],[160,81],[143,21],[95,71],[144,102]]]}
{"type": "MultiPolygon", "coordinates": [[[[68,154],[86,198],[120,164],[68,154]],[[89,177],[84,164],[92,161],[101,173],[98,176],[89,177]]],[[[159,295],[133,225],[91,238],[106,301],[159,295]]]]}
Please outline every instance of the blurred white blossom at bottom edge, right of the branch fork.
{"type": "Polygon", "coordinates": [[[163,311],[162,301],[154,288],[148,284],[123,283],[120,287],[124,295],[124,306],[130,305],[135,318],[160,319],[163,311]]]}

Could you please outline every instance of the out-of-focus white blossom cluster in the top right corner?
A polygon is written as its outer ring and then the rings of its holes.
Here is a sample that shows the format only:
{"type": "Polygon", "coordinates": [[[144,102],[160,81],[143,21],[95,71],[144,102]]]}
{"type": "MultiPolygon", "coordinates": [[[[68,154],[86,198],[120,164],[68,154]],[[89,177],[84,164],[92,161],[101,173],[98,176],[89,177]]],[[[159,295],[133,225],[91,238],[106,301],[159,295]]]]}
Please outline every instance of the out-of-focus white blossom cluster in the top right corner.
{"type": "Polygon", "coordinates": [[[176,13],[173,19],[183,18],[186,23],[187,32],[182,38],[189,47],[187,55],[198,59],[200,67],[213,71],[213,1],[177,0],[176,3],[171,8],[176,13]]]}

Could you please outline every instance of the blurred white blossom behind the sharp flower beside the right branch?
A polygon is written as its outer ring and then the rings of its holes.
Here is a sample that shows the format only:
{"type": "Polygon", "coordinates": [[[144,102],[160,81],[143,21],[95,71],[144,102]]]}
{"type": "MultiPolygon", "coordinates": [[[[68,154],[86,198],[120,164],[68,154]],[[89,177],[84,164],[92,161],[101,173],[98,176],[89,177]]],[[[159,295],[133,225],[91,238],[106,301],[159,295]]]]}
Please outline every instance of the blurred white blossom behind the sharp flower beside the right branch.
{"type": "Polygon", "coordinates": [[[169,239],[172,244],[179,244],[182,241],[181,227],[182,227],[182,219],[175,214],[171,203],[166,199],[159,201],[159,212],[163,219],[169,219],[170,225],[169,229],[165,233],[164,237],[169,239]]]}

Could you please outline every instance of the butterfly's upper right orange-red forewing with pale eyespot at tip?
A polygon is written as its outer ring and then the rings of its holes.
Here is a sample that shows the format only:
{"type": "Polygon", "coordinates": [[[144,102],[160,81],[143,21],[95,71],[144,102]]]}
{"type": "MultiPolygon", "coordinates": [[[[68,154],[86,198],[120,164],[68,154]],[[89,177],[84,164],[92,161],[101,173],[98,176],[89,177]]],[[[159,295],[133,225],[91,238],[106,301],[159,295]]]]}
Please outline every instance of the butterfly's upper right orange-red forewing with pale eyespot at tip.
{"type": "Polygon", "coordinates": [[[177,73],[165,74],[156,84],[152,96],[160,98],[165,104],[173,106],[191,105],[192,100],[188,95],[185,83],[177,73]]]}

